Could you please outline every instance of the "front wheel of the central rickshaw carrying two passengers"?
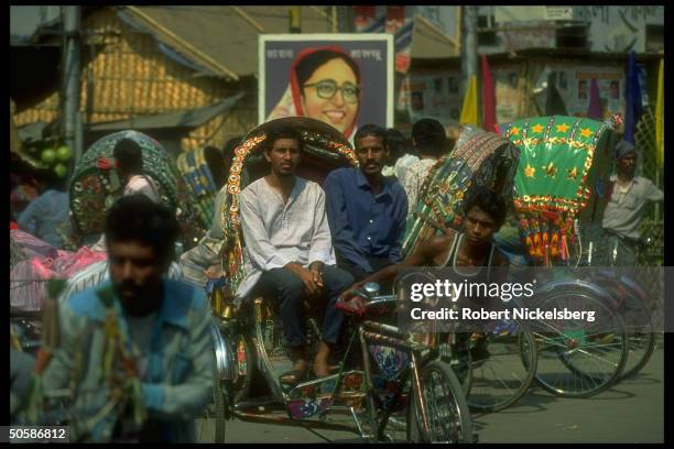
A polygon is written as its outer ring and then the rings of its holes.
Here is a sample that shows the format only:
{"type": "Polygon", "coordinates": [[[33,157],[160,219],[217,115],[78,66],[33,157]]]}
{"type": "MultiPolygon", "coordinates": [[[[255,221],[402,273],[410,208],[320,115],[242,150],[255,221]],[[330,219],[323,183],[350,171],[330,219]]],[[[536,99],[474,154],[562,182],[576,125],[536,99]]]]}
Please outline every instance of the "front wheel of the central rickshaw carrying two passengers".
{"type": "Polygon", "coordinates": [[[472,442],[472,420],[461,385],[447,363],[432,361],[420,372],[423,409],[413,388],[407,438],[413,442],[472,442]],[[424,431],[424,415],[427,423],[424,431]]]}

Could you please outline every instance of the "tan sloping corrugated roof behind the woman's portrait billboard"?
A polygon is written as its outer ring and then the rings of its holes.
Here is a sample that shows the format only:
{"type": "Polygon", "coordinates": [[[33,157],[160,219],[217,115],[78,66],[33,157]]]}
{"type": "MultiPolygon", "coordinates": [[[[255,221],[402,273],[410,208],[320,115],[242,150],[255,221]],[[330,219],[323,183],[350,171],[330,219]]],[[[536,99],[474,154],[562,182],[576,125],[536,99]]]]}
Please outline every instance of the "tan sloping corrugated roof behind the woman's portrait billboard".
{"type": "MultiPolygon", "coordinates": [[[[113,7],[127,24],[152,34],[164,54],[207,75],[238,80],[258,73],[260,34],[289,32],[289,8],[282,6],[113,7]]],[[[304,6],[302,32],[331,33],[327,8],[304,6]]],[[[45,28],[37,35],[48,34],[45,28]]],[[[454,39],[421,17],[414,20],[411,56],[457,56],[454,39]]]]}

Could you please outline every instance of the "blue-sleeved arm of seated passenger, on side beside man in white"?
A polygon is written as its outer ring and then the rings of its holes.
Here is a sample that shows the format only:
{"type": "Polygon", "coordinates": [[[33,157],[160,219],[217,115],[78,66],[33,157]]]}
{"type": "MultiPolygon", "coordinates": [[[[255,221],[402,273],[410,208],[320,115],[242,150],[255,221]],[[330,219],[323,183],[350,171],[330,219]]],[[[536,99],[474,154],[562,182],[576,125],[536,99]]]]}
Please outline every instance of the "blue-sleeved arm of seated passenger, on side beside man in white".
{"type": "Polygon", "coordinates": [[[346,198],[336,176],[330,176],[323,184],[326,196],[326,211],[329,228],[333,231],[333,244],[352,264],[371,271],[372,267],[356,244],[356,236],[347,216],[346,198]]]}

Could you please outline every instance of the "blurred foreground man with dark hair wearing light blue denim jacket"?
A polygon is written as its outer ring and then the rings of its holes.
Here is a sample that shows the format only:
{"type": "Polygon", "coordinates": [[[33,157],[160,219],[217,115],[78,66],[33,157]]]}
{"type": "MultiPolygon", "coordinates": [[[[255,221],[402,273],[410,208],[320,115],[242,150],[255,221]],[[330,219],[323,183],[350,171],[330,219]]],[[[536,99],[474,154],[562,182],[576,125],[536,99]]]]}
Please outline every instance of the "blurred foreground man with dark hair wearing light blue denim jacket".
{"type": "Polygon", "coordinates": [[[213,318],[202,291],[165,276],[177,233],[163,206],[121,198],[106,223],[110,281],[61,304],[43,388],[70,392],[72,439],[195,441],[213,391],[213,318]]]}

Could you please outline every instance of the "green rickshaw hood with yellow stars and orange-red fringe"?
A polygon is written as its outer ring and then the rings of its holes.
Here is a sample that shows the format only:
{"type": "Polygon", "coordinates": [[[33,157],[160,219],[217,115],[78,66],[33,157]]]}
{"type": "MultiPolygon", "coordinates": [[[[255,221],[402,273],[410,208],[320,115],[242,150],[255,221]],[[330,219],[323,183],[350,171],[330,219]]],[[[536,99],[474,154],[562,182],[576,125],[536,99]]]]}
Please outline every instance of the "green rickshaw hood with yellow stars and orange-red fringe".
{"type": "Polygon", "coordinates": [[[578,255],[574,221],[601,220],[615,127],[611,120],[567,116],[502,127],[521,151],[513,204],[522,241],[539,263],[573,263],[578,255]]]}

